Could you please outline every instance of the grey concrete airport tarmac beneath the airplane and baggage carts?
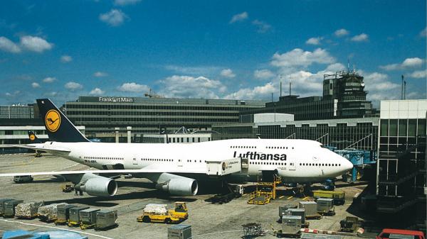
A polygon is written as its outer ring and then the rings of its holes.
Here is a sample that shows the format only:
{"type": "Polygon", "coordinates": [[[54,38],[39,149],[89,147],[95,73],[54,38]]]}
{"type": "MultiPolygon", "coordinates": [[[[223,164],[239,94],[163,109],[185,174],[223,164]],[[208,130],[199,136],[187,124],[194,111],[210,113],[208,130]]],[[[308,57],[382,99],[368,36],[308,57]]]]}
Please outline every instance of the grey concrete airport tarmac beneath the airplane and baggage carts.
{"type": "MultiPolygon", "coordinates": [[[[34,158],[33,154],[0,155],[0,172],[46,172],[59,170],[88,169],[61,157],[44,154],[34,158]]],[[[201,194],[186,197],[169,197],[153,189],[147,179],[117,179],[119,189],[116,196],[97,197],[84,194],[75,196],[73,192],[63,193],[61,182],[53,176],[35,177],[34,181],[26,184],[15,184],[12,177],[0,177],[0,198],[23,199],[24,201],[45,201],[45,204],[66,202],[69,204],[88,205],[93,208],[110,208],[118,211],[117,228],[106,231],[93,229],[80,230],[68,226],[55,226],[54,223],[43,223],[38,219],[19,220],[15,218],[0,218],[0,233],[4,230],[75,230],[88,238],[167,238],[169,225],[163,223],[138,223],[137,216],[142,213],[146,204],[170,204],[174,201],[186,201],[189,208],[189,219],[182,224],[191,225],[193,238],[241,238],[242,224],[261,223],[268,230],[261,238],[275,238],[272,228],[280,229],[278,221],[278,206],[295,204],[301,199],[283,196],[266,205],[247,204],[247,196],[234,199],[228,204],[211,204],[209,199],[214,194],[201,194]]],[[[246,185],[252,185],[248,183],[246,185]]],[[[310,228],[322,230],[339,230],[339,221],[346,216],[354,194],[360,193],[366,185],[341,187],[346,192],[346,204],[337,206],[335,216],[325,216],[321,220],[310,220],[310,228]]],[[[280,188],[283,189],[284,188],[280,188]]],[[[203,191],[203,190],[202,190],[203,191]]],[[[278,191],[280,194],[281,191],[278,191]]],[[[212,192],[213,193],[213,192],[212,192]]],[[[352,238],[345,236],[342,238],[352,238]]]]}

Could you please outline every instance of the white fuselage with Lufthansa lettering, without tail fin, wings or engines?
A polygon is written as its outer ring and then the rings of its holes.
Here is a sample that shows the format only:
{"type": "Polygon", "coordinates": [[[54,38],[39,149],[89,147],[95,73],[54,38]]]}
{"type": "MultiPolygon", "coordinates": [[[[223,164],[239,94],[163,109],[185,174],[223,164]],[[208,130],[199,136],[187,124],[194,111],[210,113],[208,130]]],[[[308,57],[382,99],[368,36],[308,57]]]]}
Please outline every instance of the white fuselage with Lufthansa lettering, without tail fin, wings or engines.
{"type": "Polygon", "coordinates": [[[247,169],[233,177],[256,179],[263,171],[277,170],[285,182],[320,182],[344,174],[353,165],[313,140],[233,139],[202,143],[60,143],[43,147],[69,150],[58,154],[96,169],[156,167],[206,169],[206,161],[247,159],[247,169]]]}

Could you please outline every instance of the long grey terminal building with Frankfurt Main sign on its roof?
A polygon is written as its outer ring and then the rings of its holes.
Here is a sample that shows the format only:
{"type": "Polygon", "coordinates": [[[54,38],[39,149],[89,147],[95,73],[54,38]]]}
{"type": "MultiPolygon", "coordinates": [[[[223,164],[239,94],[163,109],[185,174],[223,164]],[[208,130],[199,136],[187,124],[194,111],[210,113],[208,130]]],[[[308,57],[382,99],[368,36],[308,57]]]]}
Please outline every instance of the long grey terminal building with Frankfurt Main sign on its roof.
{"type": "MultiPolygon", "coordinates": [[[[182,126],[210,130],[213,123],[237,123],[241,111],[264,106],[265,101],[80,96],[62,109],[76,126],[85,126],[89,138],[115,142],[115,131],[131,130],[132,142],[142,142],[144,133],[168,133],[182,126]]],[[[120,135],[119,140],[125,142],[126,137],[120,135]]]]}

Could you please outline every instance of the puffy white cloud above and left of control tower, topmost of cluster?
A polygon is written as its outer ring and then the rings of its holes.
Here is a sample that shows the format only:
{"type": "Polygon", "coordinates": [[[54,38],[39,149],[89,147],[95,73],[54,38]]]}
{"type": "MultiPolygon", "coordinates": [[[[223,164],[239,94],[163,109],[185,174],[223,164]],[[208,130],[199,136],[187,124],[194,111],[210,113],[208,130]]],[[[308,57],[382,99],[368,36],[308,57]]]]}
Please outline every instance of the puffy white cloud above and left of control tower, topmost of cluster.
{"type": "Polygon", "coordinates": [[[275,67],[307,67],[313,63],[329,64],[334,61],[334,57],[332,57],[327,50],[323,50],[322,48],[317,48],[313,52],[295,48],[283,54],[276,52],[270,64],[275,67]]]}

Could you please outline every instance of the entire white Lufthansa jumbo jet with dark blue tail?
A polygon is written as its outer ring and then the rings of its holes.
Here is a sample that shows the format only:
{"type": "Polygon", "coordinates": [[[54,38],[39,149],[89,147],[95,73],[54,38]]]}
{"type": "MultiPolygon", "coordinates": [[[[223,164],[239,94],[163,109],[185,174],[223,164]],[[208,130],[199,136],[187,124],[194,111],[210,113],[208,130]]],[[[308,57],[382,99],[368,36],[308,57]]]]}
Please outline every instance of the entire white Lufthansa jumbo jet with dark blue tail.
{"type": "Polygon", "coordinates": [[[14,146],[49,152],[96,170],[6,173],[0,174],[0,177],[60,174],[80,191],[93,196],[114,196],[117,183],[102,175],[132,174],[132,177],[151,180],[157,189],[169,194],[186,196],[197,194],[197,179],[212,176],[210,166],[215,165],[213,163],[220,166],[214,174],[216,178],[246,182],[255,181],[264,174],[277,174],[283,182],[289,183],[322,182],[342,175],[353,167],[349,160],[313,140],[95,143],[85,138],[51,100],[37,99],[37,104],[49,140],[46,143],[14,146]],[[228,170],[231,168],[234,170],[228,170]]]}

